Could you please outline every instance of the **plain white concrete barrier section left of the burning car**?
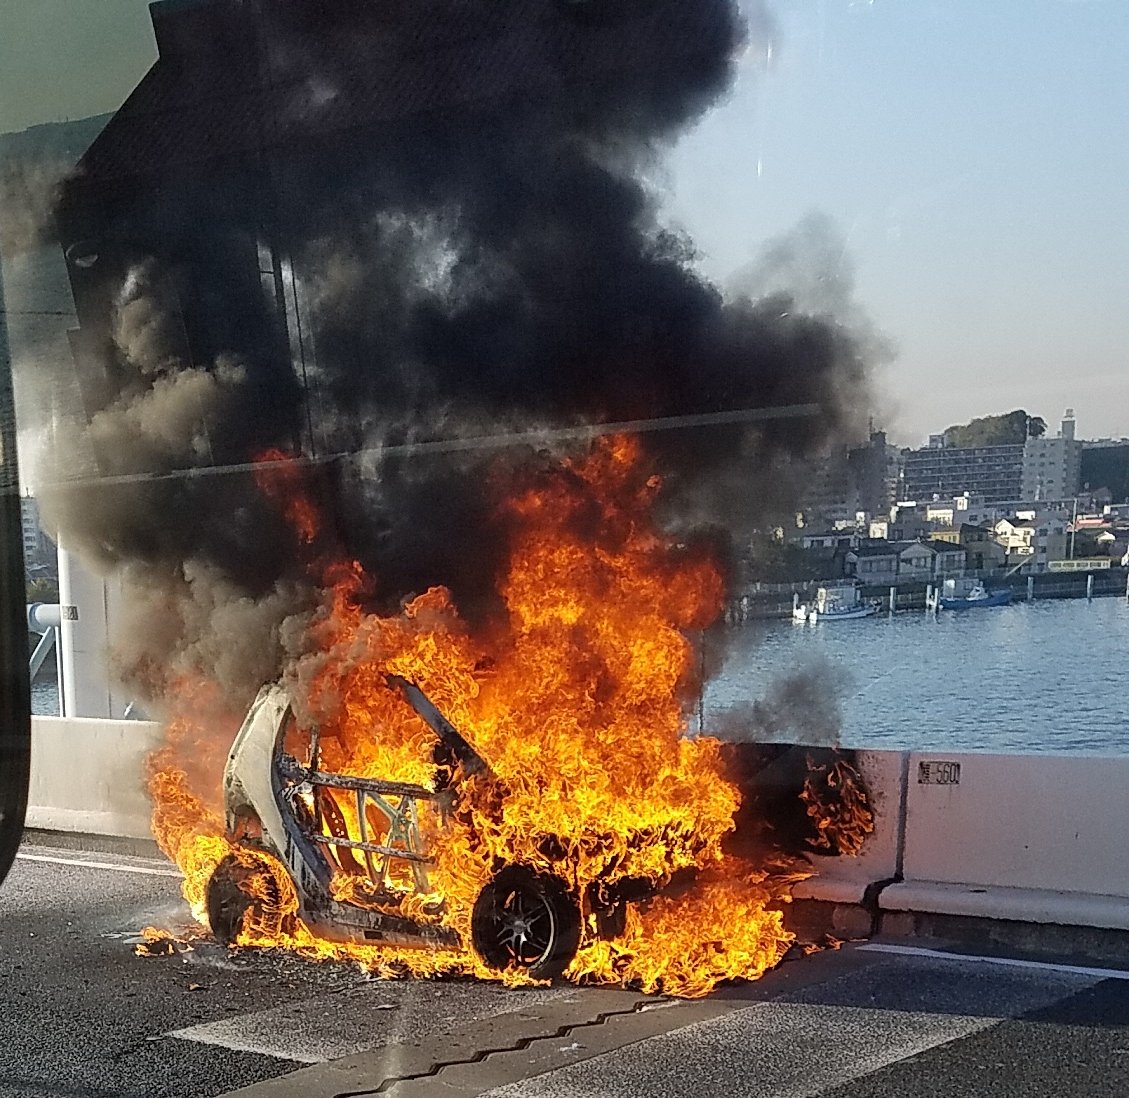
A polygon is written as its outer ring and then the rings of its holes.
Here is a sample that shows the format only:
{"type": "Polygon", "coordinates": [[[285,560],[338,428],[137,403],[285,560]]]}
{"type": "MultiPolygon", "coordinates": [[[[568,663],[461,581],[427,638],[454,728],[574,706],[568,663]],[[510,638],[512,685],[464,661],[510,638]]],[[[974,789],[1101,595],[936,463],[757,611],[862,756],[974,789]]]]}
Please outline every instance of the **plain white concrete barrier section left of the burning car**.
{"type": "Polygon", "coordinates": [[[145,761],[159,743],[149,721],[32,718],[27,826],[151,838],[145,761]]]}

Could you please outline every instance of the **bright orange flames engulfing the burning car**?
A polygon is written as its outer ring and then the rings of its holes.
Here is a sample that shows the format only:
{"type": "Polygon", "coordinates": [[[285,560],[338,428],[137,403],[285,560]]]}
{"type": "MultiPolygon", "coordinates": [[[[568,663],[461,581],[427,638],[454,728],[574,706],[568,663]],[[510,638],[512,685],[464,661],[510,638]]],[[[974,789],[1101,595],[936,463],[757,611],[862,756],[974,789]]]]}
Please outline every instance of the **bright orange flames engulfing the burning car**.
{"type": "MultiPolygon", "coordinates": [[[[320,521],[299,467],[264,472],[263,490],[300,538],[314,541],[320,521]]],[[[780,960],[793,941],[781,905],[805,872],[770,873],[723,850],[739,793],[724,776],[719,744],[688,735],[699,686],[688,631],[717,617],[724,586],[706,552],[657,530],[659,486],[638,442],[615,438],[511,492],[501,504],[517,529],[499,583],[505,622],[479,632],[441,588],[397,615],[366,614],[360,600],[371,583],[360,565],[320,565],[325,598],[309,625],[310,655],[286,679],[299,727],[320,730],[326,771],[436,781],[435,736],[388,686],[390,674],[417,683],[489,762],[488,773],[463,784],[445,826],[421,820],[436,861],[426,895],[412,893],[408,875],[391,877],[403,891],[402,914],[437,921],[441,910],[443,922],[470,941],[475,897],[501,862],[567,871],[579,897],[624,881],[654,889],[673,882],[677,889],[630,905],[614,939],[587,934],[567,975],[702,995],[780,960]]],[[[228,724],[218,739],[203,738],[226,749],[233,732],[228,724]]],[[[469,949],[341,946],[316,937],[297,917],[285,870],[233,843],[219,806],[194,785],[182,763],[193,734],[199,728],[183,718],[170,724],[150,789],[155,834],[184,871],[198,919],[212,869],[234,855],[272,913],[248,920],[240,943],[349,958],[385,974],[524,978],[489,968],[469,949]]],[[[212,798],[218,774],[217,766],[212,798]]],[[[335,809],[334,826],[360,837],[357,809],[335,809]]],[[[364,903],[355,868],[339,859],[333,894],[364,903]]],[[[584,915],[594,930],[596,915],[584,915]]]]}

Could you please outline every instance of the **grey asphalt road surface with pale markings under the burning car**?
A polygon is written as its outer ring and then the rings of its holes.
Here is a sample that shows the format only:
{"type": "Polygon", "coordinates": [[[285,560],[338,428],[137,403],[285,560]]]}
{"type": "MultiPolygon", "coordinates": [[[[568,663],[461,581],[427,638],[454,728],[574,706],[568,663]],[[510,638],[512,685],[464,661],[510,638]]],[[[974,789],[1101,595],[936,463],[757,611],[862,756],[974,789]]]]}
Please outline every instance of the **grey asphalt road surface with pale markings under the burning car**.
{"type": "Polygon", "coordinates": [[[28,846],[0,888],[0,1098],[1129,1095],[1129,980],[872,943],[694,1003],[374,981],[201,942],[160,862],[28,846]]]}

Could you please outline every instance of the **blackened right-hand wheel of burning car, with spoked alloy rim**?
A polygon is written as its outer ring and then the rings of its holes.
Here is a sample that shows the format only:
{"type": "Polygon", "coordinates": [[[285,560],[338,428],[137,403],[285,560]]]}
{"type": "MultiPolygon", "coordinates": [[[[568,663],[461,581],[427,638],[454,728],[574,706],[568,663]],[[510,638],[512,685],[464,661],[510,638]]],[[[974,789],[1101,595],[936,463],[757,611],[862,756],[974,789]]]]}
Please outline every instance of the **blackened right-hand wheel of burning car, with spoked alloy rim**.
{"type": "Polygon", "coordinates": [[[580,947],[580,908],[559,877],[507,866],[474,902],[471,943],[491,968],[551,980],[580,947]]]}

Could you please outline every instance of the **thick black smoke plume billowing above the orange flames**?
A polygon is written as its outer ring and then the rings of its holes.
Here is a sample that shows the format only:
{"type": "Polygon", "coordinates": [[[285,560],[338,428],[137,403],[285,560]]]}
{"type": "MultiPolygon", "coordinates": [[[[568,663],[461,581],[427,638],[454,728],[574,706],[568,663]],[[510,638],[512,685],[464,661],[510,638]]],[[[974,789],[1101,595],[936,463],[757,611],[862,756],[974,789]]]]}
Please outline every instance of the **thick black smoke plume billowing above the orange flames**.
{"type": "Polygon", "coordinates": [[[216,472],[270,448],[312,459],[375,605],[441,583],[473,617],[505,559],[492,493],[567,448],[550,432],[815,405],[644,434],[665,519],[690,532],[755,521],[751,471],[857,425],[849,326],[781,292],[726,298],[646,183],[771,34],[755,6],[750,23],[736,0],[213,0],[155,18],[160,60],[58,210],[86,415],[59,457],[79,481],[49,501],[67,542],[165,606],[145,660],[126,656],[151,691],[155,666],[212,651],[218,605],[255,608],[254,677],[308,604],[274,504],[216,472]]]}

